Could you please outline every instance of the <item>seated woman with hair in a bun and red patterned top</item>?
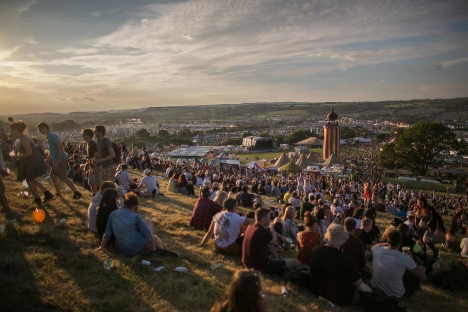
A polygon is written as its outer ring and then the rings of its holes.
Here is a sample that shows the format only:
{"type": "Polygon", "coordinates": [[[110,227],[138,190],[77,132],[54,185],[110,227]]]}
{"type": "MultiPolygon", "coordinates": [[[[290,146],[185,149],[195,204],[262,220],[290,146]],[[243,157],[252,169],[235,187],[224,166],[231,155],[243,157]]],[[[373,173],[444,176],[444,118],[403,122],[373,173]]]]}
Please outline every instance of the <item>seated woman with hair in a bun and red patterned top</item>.
{"type": "Polygon", "coordinates": [[[299,247],[297,260],[302,264],[309,264],[309,255],[315,246],[320,244],[320,234],[317,232],[317,218],[309,211],[304,214],[304,224],[306,229],[297,233],[297,245],[299,247]]]}

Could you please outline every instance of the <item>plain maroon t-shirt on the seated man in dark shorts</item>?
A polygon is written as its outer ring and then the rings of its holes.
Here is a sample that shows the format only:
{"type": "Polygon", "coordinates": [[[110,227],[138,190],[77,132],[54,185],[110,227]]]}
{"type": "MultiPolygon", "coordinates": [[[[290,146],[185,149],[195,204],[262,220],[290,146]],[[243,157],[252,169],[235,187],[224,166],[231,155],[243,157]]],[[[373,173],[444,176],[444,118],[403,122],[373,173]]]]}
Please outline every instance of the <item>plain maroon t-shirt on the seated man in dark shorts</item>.
{"type": "Polygon", "coordinates": [[[247,227],[242,243],[242,265],[244,268],[261,270],[268,262],[268,244],[272,241],[272,232],[254,223],[247,227]]]}

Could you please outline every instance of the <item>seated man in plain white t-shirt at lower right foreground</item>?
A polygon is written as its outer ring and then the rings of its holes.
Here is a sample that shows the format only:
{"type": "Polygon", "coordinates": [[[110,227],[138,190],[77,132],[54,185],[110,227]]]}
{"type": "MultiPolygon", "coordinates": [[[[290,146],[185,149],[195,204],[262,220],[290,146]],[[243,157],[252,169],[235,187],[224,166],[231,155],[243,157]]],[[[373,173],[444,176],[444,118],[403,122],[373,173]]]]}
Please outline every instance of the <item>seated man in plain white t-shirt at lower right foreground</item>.
{"type": "Polygon", "coordinates": [[[426,280],[426,269],[414,263],[411,253],[399,251],[403,236],[390,230],[387,242],[372,247],[372,280],[370,284],[386,295],[395,298],[410,296],[426,280]]]}

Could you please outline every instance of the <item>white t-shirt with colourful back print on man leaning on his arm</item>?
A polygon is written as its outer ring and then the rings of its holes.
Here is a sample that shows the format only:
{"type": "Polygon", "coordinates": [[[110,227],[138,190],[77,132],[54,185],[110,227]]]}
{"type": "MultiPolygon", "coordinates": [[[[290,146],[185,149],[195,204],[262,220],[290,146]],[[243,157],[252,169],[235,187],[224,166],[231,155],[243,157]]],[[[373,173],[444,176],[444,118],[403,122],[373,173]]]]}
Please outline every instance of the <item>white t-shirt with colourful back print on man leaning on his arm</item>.
{"type": "Polygon", "coordinates": [[[225,248],[233,244],[239,236],[240,227],[245,222],[245,217],[222,211],[213,217],[215,222],[215,244],[225,248]]]}

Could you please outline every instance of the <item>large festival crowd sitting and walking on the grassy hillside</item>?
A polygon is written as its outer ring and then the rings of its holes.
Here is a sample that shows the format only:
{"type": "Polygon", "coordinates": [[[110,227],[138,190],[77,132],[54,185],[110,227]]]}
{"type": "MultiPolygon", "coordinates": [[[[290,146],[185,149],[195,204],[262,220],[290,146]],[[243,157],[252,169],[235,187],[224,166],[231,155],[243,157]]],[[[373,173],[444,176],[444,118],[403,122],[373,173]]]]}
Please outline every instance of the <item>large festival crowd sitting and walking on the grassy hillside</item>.
{"type": "MultiPolygon", "coordinates": [[[[87,227],[101,240],[98,249],[112,242],[123,254],[178,256],[164,248],[153,221],[138,211],[138,197],[163,195],[153,171],[168,179],[167,192],[198,197],[187,221],[203,231],[199,246],[206,248],[213,239],[215,250],[239,256],[245,268],[234,274],[212,311],[247,311],[246,304],[264,311],[258,272],[306,271],[314,294],[342,306],[357,302],[363,292],[410,296],[439,258],[434,239],[440,233],[449,250],[468,257],[468,238],[460,235],[467,231],[467,198],[384,184],[372,155],[360,154],[351,162],[358,172],[352,179],[246,167],[225,171],[197,161],[150,157],[133,143],[127,150],[105,137],[104,126],[82,130],[78,146],[61,142],[46,123],[37,126],[45,144],[33,140],[22,121],[11,120],[9,128],[9,136],[0,129],[6,145],[2,155],[16,163],[17,180],[26,181],[36,205],[61,196],[61,182],[75,200],[82,196],[76,184],[92,193],[87,227]],[[141,181],[131,176],[130,167],[143,171],[141,181]],[[55,194],[39,182],[49,177],[55,194]],[[385,231],[376,224],[377,211],[393,217],[385,231]],[[449,213],[446,231],[441,215],[449,213]],[[295,258],[281,257],[290,249],[298,251],[295,258]]],[[[4,168],[2,159],[0,165],[4,168]]],[[[9,207],[1,179],[0,203],[8,219],[21,217],[9,207]]]]}

